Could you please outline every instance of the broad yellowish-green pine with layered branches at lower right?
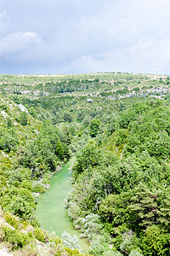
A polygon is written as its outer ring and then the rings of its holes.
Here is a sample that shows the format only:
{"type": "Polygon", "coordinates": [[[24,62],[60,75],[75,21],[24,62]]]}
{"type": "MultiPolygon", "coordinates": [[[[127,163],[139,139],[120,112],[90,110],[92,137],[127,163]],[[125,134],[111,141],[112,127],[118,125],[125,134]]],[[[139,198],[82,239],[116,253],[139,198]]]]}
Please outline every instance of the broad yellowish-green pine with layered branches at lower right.
{"type": "Polygon", "coordinates": [[[143,183],[139,183],[138,187],[128,192],[108,195],[99,207],[99,215],[112,226],[128,221],[129,227],[135,231],[142,230],[150,224],[167,225],[169,204],[165,200],[166,196],[166,192],[148,189],[143,183]]]}

